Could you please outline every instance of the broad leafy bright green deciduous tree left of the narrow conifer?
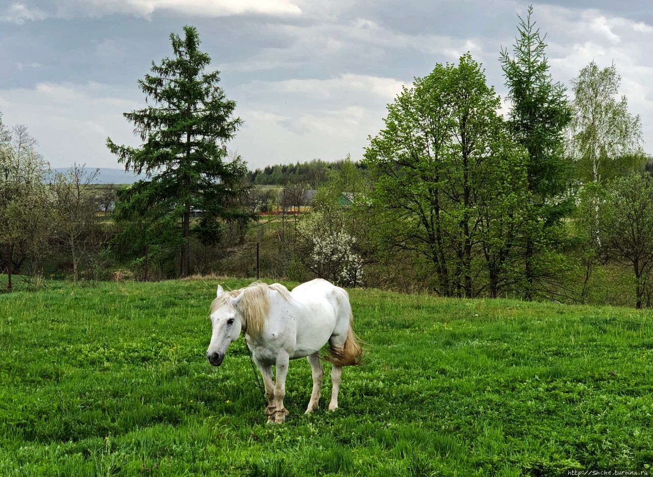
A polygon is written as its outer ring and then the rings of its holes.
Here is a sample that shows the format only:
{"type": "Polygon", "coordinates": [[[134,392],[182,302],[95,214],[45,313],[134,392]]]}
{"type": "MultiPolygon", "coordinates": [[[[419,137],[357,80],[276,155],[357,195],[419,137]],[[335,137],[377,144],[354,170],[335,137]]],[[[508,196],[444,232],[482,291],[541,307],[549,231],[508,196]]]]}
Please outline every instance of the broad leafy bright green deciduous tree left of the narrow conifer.
{"type": "Polygon", "coordinates": [[[481,66],[466,54],[404,88],[365,154],[379,176],[373,203],[383,242],[428,259],[443,295],[483,288],[481,252],[486,263],[498,260],[487,269],[494,293],[507,284],[501,275],[518,237],[505,238],[506,221],[523,218],[518,210],[529,201],[524,151],[507,134],[499,107],[481,66]]]}

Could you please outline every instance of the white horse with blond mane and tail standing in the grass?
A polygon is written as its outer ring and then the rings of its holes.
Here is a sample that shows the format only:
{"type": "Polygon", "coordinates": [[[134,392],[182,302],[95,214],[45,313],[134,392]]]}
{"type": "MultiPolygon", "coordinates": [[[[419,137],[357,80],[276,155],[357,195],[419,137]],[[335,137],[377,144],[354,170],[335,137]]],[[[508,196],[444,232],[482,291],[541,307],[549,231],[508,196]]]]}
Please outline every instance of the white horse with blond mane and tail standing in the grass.
{"type": "Polygon", "coordinates": [[[308,358],[313,371],[313,392],[306,413],[318,408],[322,385],[319,350],[328,341],[331,368],[330,410],[338,407],[342,367],[360,364],[361,348],[351,324],[349,296],[327,280],[311,280],[292,293],[281,284],[253,283],[234,291],[217,287],[210,308],[213,327],[206,358],[214,366],[222,364],[229,344],[246,334],[247,346],[263,375],[268,398],[268,423],[282,423],[288,410],[283,407],[288,361],[308,358]],[[276,366],[276,383],[272,376],[276,366]]]}

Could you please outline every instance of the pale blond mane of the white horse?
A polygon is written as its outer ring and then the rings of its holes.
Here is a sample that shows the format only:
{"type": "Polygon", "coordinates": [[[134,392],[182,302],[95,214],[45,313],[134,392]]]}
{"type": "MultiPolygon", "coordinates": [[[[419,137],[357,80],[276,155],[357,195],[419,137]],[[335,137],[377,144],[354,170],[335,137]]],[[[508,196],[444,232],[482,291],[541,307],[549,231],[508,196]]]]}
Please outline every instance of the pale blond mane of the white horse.
{"type": "Polygon", "coordinates": [[[247,335],[257,338],[263,332],[263,325],[270,311],[269,290],[278,291],[279,295],[286,301],[291,299],[291,294],[288,289],[279,283],[268,285],[261,282],[254,282],[245,288],[225,291],[225,293],[221,293],[218,297],[215,297],[211,303],[209,314],[212,314],[220,306],[225,304],[232,306],[231,299],[238,297],[242,293],[243,296],[238,302],[238,312],[240,313],[242,328],[247,335]]]}

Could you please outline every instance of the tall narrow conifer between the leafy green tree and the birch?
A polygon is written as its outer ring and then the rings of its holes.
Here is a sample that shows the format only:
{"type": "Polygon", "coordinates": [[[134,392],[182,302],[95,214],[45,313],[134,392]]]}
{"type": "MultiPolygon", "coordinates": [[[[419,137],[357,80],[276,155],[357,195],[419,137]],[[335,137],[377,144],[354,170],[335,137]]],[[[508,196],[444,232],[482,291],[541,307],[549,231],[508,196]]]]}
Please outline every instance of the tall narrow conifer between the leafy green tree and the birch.
{"type": "Polygon", "coordinates": [[[553,82],[545,55],[543,37],[531,21],[533,7],[528,7],[526,21],[518,16],[519,36],[513,56],[501,50],[501,63],[512,109],[508,126],[513,137],[528,150],[528,189],[534,215],[530,218],[530,237],[526,237],[524,297],[532,299],[534,282],[543,270],[536,255],[550,243],[550,227],[571,211],[570,201],[560,200],[567,188],[569,165],[564,156],[564,129],[571,122],[571,107],[565,87],[553,82]],[[547,238],[547,236],[549,238],[547,238]]]}

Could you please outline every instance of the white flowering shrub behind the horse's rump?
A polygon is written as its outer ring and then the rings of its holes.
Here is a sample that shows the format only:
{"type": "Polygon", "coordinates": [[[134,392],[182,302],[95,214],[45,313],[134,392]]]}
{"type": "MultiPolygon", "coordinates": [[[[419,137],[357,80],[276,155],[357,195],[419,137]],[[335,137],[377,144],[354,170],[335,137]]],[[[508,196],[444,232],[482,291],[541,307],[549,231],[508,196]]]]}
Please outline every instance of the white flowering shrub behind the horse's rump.
{"type": "Polygon", "coordinates": [[[319,278],[341,286],[360,285],[362,259],[355,252],[356,237],[336,223],[321,212],[313,212],[299,223],[303,250],[298,258],[319,278]]]}

